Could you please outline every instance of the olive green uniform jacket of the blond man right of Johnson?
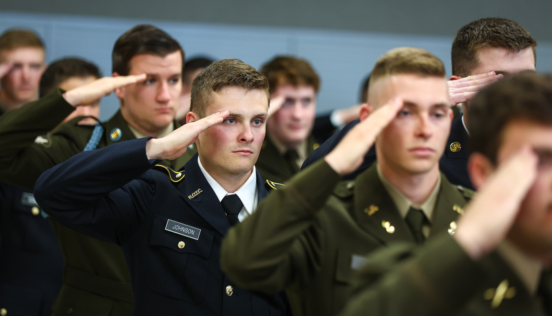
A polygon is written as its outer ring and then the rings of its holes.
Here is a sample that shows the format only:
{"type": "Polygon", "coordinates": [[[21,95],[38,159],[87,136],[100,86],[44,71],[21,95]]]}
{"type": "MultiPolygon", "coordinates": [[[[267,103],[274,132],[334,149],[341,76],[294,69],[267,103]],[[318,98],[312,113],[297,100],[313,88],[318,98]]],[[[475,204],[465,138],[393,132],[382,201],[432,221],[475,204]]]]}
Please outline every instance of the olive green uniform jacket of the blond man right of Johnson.
{"type": "MultiPolygon", "coordinates": [[[[339,312],[364,255],[396,241],[415,242],[375,166],[354,181],[339,179],[321,159],[271,192],[228,232],[223,270],[243,288],[286,290],[295,316],[339,312]]],[[[430,238],[451,228],[469,195],[442,176],[430,238]]]]}

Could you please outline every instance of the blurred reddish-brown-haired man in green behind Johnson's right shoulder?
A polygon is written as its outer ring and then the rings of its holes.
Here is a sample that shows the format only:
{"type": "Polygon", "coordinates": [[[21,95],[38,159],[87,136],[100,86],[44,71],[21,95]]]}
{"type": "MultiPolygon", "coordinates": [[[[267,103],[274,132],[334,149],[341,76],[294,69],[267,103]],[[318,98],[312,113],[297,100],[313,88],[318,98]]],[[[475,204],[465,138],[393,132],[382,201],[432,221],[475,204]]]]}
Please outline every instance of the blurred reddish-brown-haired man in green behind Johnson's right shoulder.
{"type": "Polygon", "coordinates": [[[295,57],[275,57],[261,72],[268,78],[273,108],[255,166],[263,179],[284,183],[318,147],[311,132],[320,81],[307,61],[295,57]]]}

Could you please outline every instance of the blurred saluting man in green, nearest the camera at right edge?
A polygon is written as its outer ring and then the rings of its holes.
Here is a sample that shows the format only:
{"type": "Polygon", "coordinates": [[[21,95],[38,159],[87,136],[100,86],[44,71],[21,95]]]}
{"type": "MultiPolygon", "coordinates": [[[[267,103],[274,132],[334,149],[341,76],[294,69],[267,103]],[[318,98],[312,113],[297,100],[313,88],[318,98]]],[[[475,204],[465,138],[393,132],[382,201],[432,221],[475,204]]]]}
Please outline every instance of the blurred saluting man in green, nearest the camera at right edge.
{"type": "Polygon", "coordinates": [[[455,234],[368,257],[340,315],[552,315],[552,77],[505,78],[468,115],[479,192],[455,234]]]}

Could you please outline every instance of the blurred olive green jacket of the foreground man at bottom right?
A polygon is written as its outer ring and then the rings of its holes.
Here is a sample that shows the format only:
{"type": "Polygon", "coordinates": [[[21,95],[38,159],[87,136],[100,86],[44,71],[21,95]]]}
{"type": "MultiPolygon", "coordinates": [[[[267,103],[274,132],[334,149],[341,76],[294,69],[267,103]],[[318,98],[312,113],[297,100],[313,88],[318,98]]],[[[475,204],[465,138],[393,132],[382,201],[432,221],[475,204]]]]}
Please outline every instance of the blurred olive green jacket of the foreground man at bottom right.
{"type": "Polygon", "coordinates": [[[543,283],[546,290],[538,299],[500,255],[473,261],[446,234],[422,247],[396,244],[373,253],[355,283],[340,316],[544,316],[552,311],[550,282],[543,283]]]}

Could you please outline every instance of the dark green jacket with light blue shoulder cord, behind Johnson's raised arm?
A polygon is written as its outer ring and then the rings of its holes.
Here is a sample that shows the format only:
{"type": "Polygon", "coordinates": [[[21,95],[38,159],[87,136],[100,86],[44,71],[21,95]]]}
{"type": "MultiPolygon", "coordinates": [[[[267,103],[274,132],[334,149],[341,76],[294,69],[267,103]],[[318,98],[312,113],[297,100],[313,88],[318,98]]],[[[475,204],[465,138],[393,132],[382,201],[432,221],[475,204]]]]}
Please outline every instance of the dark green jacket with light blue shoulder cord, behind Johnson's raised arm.
{"type": "MultiPolygon", "coordinates": [[[[94,126],[79,126],[79,118],[56,128],[72,110],[60,90],[8,111],[0,117],[0,181],[32,190],[42,172],[82,152],[94,126]],[[55,132],[48,132],[56,128],[55,132]]],[[[175,126],[177,123],[175,122],[175,126]]],[[[135,139],[117,112],[101,124],[97,148],[135,139]]],[[[184,166],[195,153],[174,161],[162,161],[171,168],[184,166]]],[[[52,221],[65,259],[63,285],[52,306],[56,315],[132,315],[130,273],[121,248],[88,237],[52,221]]]]}

